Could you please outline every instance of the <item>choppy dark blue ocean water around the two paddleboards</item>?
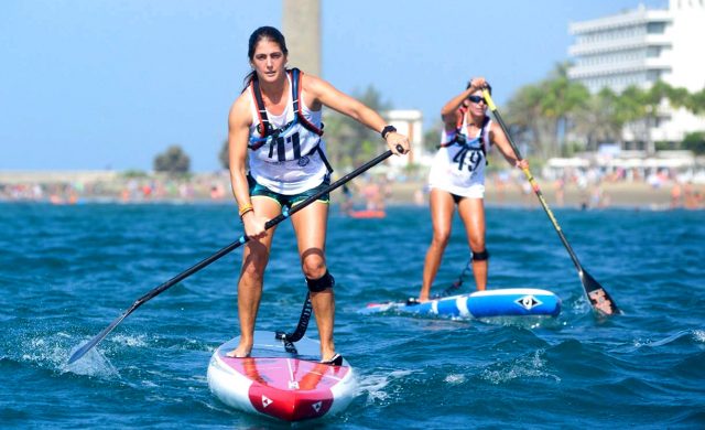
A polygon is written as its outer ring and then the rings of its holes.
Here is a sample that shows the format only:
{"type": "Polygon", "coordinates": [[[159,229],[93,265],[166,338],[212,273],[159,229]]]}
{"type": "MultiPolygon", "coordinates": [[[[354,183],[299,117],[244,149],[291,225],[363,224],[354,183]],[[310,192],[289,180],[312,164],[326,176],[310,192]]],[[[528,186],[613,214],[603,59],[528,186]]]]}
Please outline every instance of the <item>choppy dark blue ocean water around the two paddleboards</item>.
{"type": "MultiPolygon", "coordinates": [[[[299,428],[704,428],[705,214],[555,211],[625,314],[589,309],[542,209],[488,208],[490,288],[554,291],[554,320],[364,315],[417,293],[430,216],[329,219],[336,345],[359,391],[299,428]]],[[[237,334],[241,251],[152,299],[66,362],[134,300],[240,235],[227,205],[0,205],[0,427],[288,428],[220,404],[206,369],[237,334]]],[[[468,258],[456,219],[435,291],[468,258]]],[[[474,288],[465,284],[466,291],[474,288]]],[[[258,329],[291,330],[305,294],[289,223],[276,232],[258,329]]],[[[315,322],[308,335],[317,337],[315,322]]]]}

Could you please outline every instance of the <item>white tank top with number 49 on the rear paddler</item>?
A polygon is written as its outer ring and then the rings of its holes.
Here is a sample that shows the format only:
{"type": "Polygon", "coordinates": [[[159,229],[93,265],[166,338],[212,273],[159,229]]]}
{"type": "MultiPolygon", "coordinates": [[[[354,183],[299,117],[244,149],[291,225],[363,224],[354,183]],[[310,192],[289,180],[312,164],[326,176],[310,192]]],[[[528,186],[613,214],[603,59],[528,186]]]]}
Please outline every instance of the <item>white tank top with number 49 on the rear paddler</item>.
{"type": "Polygon", "coordinates": [[[429,173],[431,189],[441,189],[463,197],[482,198],[485,196],[486,153],[490,149],[491,123],[490,119],[485,126],[484,143],[480,143],[480,131],[473,139],[467,136],[467,114],[463,116],[463,127],[459,131],[465,137],[465,144],[453,143],[444,147],[443,144],[453,141],[456,131],[442,132],[442,147],[433,158],[429,173]],[[480,144],[485,144],[485,152],[480,144]]]}

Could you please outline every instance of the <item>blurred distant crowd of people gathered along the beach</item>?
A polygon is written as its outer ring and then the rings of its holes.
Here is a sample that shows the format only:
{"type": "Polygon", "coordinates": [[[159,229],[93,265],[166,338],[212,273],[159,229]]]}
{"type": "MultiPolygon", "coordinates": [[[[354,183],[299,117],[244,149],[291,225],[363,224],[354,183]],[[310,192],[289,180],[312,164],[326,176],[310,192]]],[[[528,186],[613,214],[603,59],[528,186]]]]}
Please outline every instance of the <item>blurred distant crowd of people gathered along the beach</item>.
{"type": "MultiPolygon", "coordinates": [[[[389,202],[393,204],[423,205],[427,195],[424,173],[389,178],[391,174],[368,174],[352,181],[347,192],[337,198],[341,206],[357,209],[383,211],[389,202]],[[397,192],[400,184],[412,187],[411,193],[397,192]]],[[[575,205],[583,208],[600,208],[620,205],[610,195],[614,187],[625,187],[626,193],[640,193],[639,201],[654,205],[657,195],[669,194],[670,208],[705,208],[705,184],[683,180],[673,171],[642,174],[639,171],[615,170],[601,173],[599,170],[577,170],[566,168],[543,172],[538,175],[542,192],[551,204],[557,207],[575,205]],[[576,195],[566,198],[566,195],[576,195]]],[[[532,205],[536,203],[533,190],[523,174],[517,170],[500,170],[488,174],[488,197],[500,204],[532,205]],[[513,201],[517,195],[521,197],[513,201]]],[[[659,202],[663,198],[659,198],[659,202]]],[[[192,174],[170,178],[150,174],[140,178],[116,175],[111,180],[51,182],[24,181],[0,182],[0,202],[43,202],[51,204],[97,203],[160,203],[160,202],[223,202],[231,203],[229,178],[226,172],[192,174]]],[[[663,208],[663,207],[662,207],[663,208]]]]}

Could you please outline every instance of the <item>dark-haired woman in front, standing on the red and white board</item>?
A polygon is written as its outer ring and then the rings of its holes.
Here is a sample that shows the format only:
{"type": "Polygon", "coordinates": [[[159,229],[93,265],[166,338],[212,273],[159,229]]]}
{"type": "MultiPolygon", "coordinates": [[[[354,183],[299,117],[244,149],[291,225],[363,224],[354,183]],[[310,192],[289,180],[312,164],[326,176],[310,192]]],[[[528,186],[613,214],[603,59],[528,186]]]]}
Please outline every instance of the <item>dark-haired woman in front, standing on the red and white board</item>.
{"type": "MultiPolygon", "coordinates": [[[[249,40],[252,72],[228,118],[228,147],[232,193],[245,234],[238,283],[240,344],[228,355],[247,357],[253,344],[254,321],[274,228],[265,223],[329,184],[332,168],[325,155],[321,114],[323,106],[379,131],[397,155],[409,151],[406,137],[387,126],[379,114],[327,82],[297,69],[286,69],[288,50],[282,33],[257,29],[249,40]]],[[[333,341],[335,280],[326,266],[325,239],[328,194],[292,215],[301,267],[321,336],[321,359],[339,365],[333,341]]]]}

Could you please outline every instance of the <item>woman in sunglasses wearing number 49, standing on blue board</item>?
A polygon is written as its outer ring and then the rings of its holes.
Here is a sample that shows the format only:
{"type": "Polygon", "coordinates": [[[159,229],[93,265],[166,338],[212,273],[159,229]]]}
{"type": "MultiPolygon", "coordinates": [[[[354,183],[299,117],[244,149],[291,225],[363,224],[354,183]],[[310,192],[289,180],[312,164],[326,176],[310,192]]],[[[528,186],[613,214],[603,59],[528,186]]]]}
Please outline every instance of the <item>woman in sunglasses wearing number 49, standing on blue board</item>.
{"type": "Polygon", "coordinates": [[[433,239],[423,267],[421,302],[430,300],[431,286],[451,237],[456,205],[471,250],[475,284],[478,290],[487,288],[489,254],[485,248],[484,204],[487,152],[495,144],[511,165],[528,166],[525,160],[517,159],[501,127],[487,116],[485,88],[491,94],[485,78],[473,78],[463,93],[441,109],[445,130],[429,174],[433,239]]]}

